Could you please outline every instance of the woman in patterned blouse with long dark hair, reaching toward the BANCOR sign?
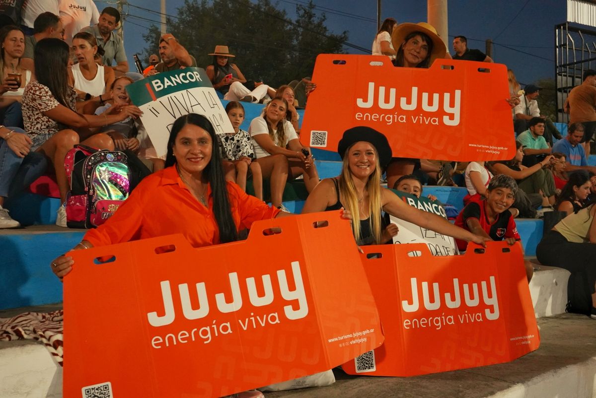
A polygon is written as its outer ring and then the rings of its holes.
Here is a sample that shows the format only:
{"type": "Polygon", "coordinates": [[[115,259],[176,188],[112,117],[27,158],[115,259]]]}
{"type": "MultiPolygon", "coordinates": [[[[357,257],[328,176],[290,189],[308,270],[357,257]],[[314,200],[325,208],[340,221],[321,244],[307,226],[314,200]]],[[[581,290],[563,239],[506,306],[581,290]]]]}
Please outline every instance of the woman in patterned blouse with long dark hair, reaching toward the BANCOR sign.
{"type": "MultiPolygon", "coordinates": [[[[54,38],[39,41],[35,46],[37,80],[30,82],[23,93],[23,120],[33,142],[31,150],[45,154],[54,165],[62,203],[69,186],[64,157],[80,141],[79,134],[72,128],[83,133],[88,128],[110,125],[141,114],[134,105],[123,107],[120,113],[110,116],[77,113],[76,92],[68,82],[68,63],[69,46],[64,41],[54,38]]],[[[82,143],[95,148],[114,148],[112,139],[104,134],[92,135],[82,143]]],[[[66,227],[64,206],[58,209],[56,223],[66,227]]]]}

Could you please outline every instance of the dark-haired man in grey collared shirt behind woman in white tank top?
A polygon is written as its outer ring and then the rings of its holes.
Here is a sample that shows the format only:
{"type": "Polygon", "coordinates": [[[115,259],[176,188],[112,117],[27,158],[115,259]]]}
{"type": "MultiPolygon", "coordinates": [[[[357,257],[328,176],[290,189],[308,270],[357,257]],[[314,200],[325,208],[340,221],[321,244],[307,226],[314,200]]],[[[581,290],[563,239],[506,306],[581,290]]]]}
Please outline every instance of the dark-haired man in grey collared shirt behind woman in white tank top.
{"type": "Polygon", "coordinates": [[[94,26],[81,29],[81,32],[91,33],[97,40],[97,45],[104,49],[103,64],[111,67],[117,76],[128,72],[128,60],[124,51],[124,41],[114,30],[120,23],[120,13],[114,7],[105,7],[100,14],[100,20],[94,26]],[[116,60],[116,66],[112,66],[116,60]]]}

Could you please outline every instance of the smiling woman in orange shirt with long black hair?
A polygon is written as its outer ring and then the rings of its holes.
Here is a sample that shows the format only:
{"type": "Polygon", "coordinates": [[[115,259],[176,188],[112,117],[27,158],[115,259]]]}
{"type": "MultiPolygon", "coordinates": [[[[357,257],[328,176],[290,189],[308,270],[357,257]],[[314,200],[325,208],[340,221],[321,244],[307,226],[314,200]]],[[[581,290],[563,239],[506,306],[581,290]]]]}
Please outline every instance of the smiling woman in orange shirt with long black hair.
{"type": "MultiPolygon", "coordinates": [[[[215,130],[198,114],[179,117],[167,143],[166,168],[145,178],[109,220],[75,246],[84,249],[182,233],[193,247],[232,242],[257,220],[290,213],[267,206],[226,182],[215,130]]],[[[59,278],[72,257],[52,262],[59,278]]]]}

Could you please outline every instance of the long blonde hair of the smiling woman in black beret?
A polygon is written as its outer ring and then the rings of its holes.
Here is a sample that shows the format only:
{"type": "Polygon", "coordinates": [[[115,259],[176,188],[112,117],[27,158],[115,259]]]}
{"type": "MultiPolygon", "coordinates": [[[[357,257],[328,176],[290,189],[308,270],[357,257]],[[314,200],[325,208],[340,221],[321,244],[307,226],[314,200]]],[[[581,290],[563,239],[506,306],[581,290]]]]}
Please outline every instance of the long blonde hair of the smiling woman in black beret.
{"type": "MultiPolygon", "coordinates": [[[[339,196],[343,198],[342,204],[346,210],[352,213],[352,231],[356,242],[360,242],[362,239],[362,231],[360,230],[360,206],[358,204],[358,192],[356,186],[352,180],[352,172],[350,171],[348,153],[351,145],[347,148],[346,153],[343,156],[342,174],[339,176],[339,196]]],[[[369,217],[371,232],[373,233],[375,244],[381,243],[381,166],[378,163],[378,152],[374,145],[375,153],[375,169],[373,174],[368,177],[367,184],[364,189],[368,192],[369,198],[369,217]]]]}

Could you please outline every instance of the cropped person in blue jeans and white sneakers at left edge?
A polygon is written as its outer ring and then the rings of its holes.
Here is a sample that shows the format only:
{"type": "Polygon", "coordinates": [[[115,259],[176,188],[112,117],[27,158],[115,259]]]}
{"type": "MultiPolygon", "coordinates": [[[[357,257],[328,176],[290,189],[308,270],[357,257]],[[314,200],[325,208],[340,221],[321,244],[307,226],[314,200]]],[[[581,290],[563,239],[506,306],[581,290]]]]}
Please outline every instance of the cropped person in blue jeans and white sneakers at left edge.
{"type": "Polygon", "coordinates": [[[32,141],[23,129],[0,127],[0,229],[18,228],[4,209],[4,201],[14,197],[39,178],[48,166],[46,158],[31,151],[32,141]]]}

